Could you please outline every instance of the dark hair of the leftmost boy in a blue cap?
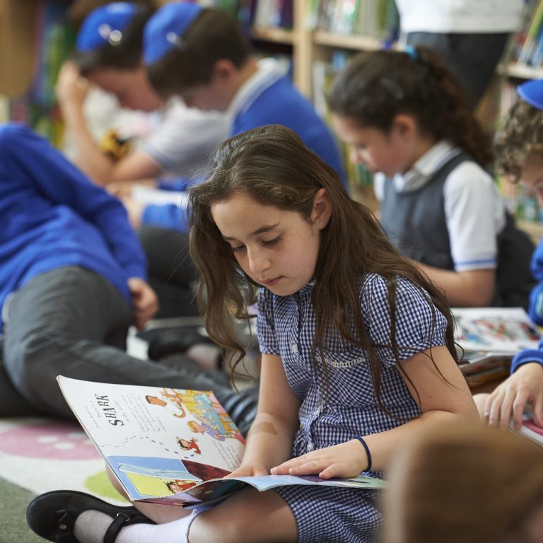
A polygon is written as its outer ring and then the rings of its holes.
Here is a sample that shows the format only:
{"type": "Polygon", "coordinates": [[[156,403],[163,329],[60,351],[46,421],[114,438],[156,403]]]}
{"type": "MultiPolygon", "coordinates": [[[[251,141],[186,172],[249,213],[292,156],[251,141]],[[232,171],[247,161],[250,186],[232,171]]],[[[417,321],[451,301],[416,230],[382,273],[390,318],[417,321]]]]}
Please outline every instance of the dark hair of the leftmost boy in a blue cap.
{"type": "Polygon", "coordinates": [[[126,28],[122,30],[119,42],[105,42],[102,47],[89,51],[76,51],[76,62],[81,76],[87,76],[97,69],[134,70],[141,64],[144,27],[153,15],[154,8],[144,3],[136,4],[136,12],[126,28]]]}

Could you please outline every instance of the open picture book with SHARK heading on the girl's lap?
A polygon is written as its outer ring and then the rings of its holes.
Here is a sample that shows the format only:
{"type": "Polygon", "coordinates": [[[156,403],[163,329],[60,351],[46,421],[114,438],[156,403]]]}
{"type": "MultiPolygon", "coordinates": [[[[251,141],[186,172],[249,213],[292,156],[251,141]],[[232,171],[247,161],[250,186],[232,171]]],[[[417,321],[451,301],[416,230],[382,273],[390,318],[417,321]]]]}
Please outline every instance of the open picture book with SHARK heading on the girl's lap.
{"type": "Polygon", "coordinates": [[[245,440],[212,392],[93,383],[59,375],[62,394],[131,501],[192,507],[247,485],[380,489],[384,481],[267,475],[223,479],[245,440]]]}

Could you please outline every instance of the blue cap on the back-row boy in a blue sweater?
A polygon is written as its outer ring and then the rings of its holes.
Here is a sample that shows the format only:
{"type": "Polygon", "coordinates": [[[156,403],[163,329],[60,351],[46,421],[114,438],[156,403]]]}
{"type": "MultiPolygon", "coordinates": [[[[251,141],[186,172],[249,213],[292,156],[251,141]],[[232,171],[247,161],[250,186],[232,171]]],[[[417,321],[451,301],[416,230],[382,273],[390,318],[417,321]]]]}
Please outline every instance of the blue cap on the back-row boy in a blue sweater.
{"type": "Polygon", "coordinates": [[[153,64],[174,47],[182,47],[182,37],[202,6],[192,2],[170,2],[147,21],[144,29],[144,63],[153,64]]]}

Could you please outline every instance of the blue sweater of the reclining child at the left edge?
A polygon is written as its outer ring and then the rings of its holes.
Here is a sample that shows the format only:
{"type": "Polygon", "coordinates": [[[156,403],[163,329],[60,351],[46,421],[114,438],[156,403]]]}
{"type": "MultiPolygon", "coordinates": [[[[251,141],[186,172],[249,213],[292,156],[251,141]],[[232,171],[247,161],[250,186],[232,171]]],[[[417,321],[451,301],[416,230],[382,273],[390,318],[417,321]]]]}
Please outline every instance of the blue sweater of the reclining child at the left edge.
{"type": "Polygon", "coordinates": [[[95,271],[128,303],[127,279],[146,276],[124,206],[28,127],[1,125],[0,308],[33,277],[66,266],[95,271]]]}

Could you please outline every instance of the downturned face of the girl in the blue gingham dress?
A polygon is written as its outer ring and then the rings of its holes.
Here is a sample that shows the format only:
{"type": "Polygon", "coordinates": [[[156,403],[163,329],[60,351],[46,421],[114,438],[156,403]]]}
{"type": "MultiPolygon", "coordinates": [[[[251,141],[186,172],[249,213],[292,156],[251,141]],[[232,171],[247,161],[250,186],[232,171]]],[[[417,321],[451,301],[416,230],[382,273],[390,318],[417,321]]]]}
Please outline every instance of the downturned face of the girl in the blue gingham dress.
{"type": "Polygon", "coordinates": [[[288,296],[313,278],[320,230],[331,215],[325,189],[315,195],[311,223],[296,212],[263,206],[243,192],[211,206],[211,214],[253,281],[274,294],[288,296]]]}

